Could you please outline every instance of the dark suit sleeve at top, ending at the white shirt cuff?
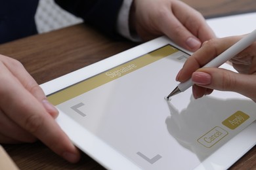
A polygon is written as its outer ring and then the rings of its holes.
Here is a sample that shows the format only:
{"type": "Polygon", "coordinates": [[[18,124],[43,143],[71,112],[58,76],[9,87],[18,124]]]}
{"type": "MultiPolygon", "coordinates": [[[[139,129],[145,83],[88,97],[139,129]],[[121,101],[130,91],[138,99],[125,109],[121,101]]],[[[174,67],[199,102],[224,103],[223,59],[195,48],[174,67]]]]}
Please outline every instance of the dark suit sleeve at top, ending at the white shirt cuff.
{"type": "Polygon", "coordinates": [[[116,22],[123,0],[54,0],[60,7],[83,18],[100,31],[116,36],[116,22]]]}

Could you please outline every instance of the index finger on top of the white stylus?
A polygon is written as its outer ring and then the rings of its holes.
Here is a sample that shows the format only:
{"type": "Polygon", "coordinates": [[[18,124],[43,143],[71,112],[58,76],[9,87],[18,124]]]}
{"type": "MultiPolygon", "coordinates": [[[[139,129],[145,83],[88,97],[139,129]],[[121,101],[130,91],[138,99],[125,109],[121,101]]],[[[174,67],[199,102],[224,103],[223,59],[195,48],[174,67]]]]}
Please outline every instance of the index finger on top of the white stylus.
{"type": "Polygon", "coordinates": [[[216,58],[228,47],[237,42],[240,37],[226,37],[223,39],[211,39],[203,42],[202,48],[196,51],[186,60],[176,80],[184,82],[188,80],[194,71],[200,69],[212,59],[216,58]]]}

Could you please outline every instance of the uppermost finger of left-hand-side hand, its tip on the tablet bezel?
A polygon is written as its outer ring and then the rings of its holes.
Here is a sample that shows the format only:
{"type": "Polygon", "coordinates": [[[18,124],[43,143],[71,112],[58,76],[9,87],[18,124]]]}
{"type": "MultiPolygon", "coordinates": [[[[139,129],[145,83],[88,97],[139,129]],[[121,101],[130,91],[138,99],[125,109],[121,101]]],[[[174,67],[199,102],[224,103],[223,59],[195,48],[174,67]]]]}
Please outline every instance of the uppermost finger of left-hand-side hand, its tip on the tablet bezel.
{"type": "Polygon", "coordinates": [[[30,74],[24,69],[23,65],[17,61],[16,59],[7,58],[5,56],[0,55],[1,61],[9,71],[11,71],[12,75],[18,78],[20,83],[28,90],[28,92],[32,93],[38,101],[40,101],[47,112],[56,118],[58,116],[58,110],[47,101],[47,97],[45,93],[41,89],[41,87],[35,82],[30,74]]]}

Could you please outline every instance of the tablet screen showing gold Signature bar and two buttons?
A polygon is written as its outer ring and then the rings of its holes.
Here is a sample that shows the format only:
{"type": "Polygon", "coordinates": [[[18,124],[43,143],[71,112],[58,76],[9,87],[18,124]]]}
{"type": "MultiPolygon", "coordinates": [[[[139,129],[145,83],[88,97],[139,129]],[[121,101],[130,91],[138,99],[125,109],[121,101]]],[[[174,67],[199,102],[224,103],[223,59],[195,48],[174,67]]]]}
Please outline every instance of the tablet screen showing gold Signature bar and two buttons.
{"type": "Polygon", "coordinates": [[[256,108],[232,92],[194,99],[188,89],[166,101],[188,57],[167,44],[48,98],[142,169],[194,169],[251,124],[256,108]]]}

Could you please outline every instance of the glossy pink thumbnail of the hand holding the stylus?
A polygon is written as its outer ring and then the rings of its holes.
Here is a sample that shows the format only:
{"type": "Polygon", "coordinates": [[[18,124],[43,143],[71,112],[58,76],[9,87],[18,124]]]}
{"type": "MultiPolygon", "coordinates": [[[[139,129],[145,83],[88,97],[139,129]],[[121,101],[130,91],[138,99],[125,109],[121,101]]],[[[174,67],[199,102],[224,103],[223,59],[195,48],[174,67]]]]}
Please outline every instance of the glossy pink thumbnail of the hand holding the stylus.
{"type": "Polygon", "coordinates": [[[204,72],[194,72],[192,74],[192,81],[198,85],[211,84],[211,75],[204,72]]]}

